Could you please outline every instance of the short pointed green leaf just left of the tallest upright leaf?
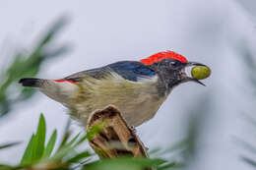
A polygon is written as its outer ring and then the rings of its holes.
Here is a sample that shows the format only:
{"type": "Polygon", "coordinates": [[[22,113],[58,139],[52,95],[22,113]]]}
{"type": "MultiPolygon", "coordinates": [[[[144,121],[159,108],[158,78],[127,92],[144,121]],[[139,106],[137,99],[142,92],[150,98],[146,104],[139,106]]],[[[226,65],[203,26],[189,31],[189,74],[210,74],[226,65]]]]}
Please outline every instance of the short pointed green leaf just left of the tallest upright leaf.
{"type": "Polygon", "coordinates": [[[34,134],[32,134],[32,138],[29,142],[29,144],[27,145],[27,148],[24,152],[23,158],[21,160],[21,165],[28,165],[28,164],[32,164],[32,144],[34,141],[34,134]]]}

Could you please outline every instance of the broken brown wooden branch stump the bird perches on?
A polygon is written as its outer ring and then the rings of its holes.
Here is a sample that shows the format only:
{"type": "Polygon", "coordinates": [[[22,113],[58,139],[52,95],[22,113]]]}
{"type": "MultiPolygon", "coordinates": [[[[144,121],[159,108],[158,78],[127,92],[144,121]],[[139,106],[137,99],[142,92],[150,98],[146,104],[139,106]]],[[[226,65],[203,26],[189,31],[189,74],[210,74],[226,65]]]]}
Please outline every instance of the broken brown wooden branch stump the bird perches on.
{"type": "Polygon", "coordinates": [[[102,125],[101,132],[89,143],[100,158],[148,157],[145,146],[116,107],[109,105],[103,110],[96,110],[88,120],[87,132],[99,124],[102,125]]]}

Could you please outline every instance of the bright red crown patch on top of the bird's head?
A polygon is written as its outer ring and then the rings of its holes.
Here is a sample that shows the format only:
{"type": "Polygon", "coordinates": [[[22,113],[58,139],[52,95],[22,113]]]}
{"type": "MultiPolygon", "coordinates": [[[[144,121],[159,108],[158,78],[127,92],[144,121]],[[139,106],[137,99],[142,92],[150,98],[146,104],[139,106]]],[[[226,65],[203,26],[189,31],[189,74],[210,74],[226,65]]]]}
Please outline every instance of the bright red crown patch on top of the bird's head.
{"type": "Polygon", "coordinates": [[[174,60],[180,61],[181,63],[187,62],[187,59],[184,56],[178,53],[175,53],[173,51],[163,51],[163,52],[154,54],[148,58],[142,59],[140,60],[140,62],[146,65],[151,65],[153,63],[160,62],[163,59],[174,59],[174,60]]]}

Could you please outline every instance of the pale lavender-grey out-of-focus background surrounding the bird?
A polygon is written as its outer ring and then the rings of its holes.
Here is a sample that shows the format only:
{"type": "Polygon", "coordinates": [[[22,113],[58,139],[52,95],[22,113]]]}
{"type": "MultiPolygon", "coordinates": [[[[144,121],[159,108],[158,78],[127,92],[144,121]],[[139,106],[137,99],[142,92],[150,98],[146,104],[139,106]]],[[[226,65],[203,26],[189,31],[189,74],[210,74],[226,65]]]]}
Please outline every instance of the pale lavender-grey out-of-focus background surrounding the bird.
{"type": "MultiPolygon", "coordinates": [[[[0,143],[22,142],[2,150],[0,162],[20,160],[40,113],[48,132],[61,133],[69,119],[61,104],[21,89],[19,77],[59,79],[173,50],[210,66],[212,76],[207,86],[175,88],[156,117],[137,128],[141,140],[152,149],[189,137],[188,169],[254,169],[242,156],[256,159],[254,147],[244,149],[245,142],[256,147],[255,0],[8,0],[0,2],[0,21],[0,143]],[[38,53],[31,63],[16,60],[38,53]],[[14,63],[18,69],[5,75],[14,63]],[[26,66],[36,67],[30,73],[26,66]]],[[[72,130],[82,128],[72,122],[72,130]]]]}

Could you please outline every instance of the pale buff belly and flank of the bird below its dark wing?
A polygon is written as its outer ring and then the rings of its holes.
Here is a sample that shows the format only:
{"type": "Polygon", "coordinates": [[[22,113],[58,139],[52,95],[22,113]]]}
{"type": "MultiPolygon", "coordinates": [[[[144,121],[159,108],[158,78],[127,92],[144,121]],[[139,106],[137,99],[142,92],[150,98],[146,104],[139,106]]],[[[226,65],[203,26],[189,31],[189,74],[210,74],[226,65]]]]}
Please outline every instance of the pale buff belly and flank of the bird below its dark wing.
{"type": "Polygon", "coordinates": [[[100,81],[87,78],[70,104],[77,112],[73,116],[86,125],[92,112],[112,104],[129,125],[139,126],[154,117],[165,100],[158,93],[157,79],[130,82],[116,75],[100,81]]]}

